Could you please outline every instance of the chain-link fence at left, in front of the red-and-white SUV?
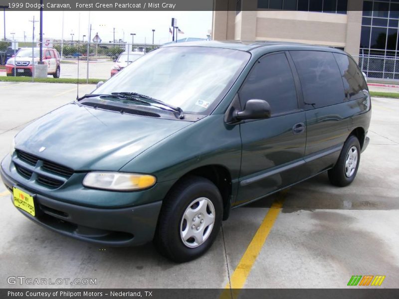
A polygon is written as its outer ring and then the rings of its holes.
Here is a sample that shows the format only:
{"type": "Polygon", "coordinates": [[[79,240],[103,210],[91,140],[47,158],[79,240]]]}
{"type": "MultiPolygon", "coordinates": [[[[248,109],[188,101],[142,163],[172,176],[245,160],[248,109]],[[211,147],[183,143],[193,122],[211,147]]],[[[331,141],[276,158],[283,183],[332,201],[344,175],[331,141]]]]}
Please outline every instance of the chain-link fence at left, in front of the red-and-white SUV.
{"type": "MultiPolygon", "coordinates": [[[[29,76],[34,82],[35,66],[39,63],[39,43],[17,43],[18,49],[13,50],[11,42],[0,41],[0,76],[29,76]]],[[[111,75],[158,46],[123,42],[43,42],[42,60],[47,64],[47,77],[79,78],[82,83],[89,83],[109,79],[111,75]]]]}

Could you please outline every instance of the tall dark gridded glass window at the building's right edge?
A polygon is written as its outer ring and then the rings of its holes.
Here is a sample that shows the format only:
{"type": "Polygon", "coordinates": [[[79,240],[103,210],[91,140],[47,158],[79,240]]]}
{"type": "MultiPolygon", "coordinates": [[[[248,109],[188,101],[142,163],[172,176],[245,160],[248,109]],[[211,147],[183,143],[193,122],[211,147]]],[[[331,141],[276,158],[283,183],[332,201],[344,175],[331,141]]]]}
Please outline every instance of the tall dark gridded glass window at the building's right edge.
{"type": "Polygon", "coordinates": [[[399,3],[363,2],[359,66],[370,78],[399,79],[399,3]]]}

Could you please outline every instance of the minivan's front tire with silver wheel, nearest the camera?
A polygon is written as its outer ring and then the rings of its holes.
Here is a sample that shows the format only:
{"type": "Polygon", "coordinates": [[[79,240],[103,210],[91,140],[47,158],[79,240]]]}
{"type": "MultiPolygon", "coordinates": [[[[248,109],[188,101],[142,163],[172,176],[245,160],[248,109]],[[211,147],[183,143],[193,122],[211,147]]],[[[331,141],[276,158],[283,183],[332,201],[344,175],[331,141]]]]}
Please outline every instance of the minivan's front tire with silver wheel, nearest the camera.
{"type": "Polygon", "coordinates": [[[164,199],[154,245],[174,262],[194,260],[214,242],[222,214],[222,197],[217,187],[203,177],[187,177],[164,199]]]}

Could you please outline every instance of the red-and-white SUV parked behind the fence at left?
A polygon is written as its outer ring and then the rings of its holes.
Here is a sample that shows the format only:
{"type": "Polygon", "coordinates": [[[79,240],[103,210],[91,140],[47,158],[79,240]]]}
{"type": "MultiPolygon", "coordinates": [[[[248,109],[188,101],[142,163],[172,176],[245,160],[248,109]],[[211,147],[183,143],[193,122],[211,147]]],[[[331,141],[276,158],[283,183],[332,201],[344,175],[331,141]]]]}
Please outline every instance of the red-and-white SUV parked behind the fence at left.
{"type": "MultiPolygon", "coordinates": [[[[39,62],[39,48],[21,48],[14,57],[5,64],[7,76],[32,76],[32,63],[39,62]],[[32,58],[33,55],[33,58],[32,58]]],[[[60,58],[56,49],[43,48],[43,62],[47,64],[49,75],[59,78],[61,67],[60,58]]]]}

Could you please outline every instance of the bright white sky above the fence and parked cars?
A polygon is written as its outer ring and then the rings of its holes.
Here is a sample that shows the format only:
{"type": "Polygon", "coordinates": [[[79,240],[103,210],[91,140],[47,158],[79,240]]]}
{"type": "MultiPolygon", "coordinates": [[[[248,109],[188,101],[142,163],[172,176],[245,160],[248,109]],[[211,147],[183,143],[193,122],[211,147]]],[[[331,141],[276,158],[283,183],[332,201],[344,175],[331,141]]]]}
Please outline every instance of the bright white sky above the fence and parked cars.
{"type": "MultiPolygon", "coordinates": [[[[11,32],[15,33],[15,40],[32,40],[32,22],[39,19],[39,11],[5,11],[5,35],[12,39],[11,32]]],[[[62,15],[64,15],[64,39],[87,40],[89,12],[88,11],[44,11],[43,33],[44,38],[57,38],[62,36],[62,15]],[[79,22],[80,19],[80,22],[79,22]],[[79,30],[80,23],[80,30],[79,30]]],[[[136,33],[134,41],[152,43],[152,29],[155,29],[155,43],[165,43],[172,40],[169,33],[171,18],[178,19],[178,26],[185,32],[181,37],[206,38],[208,30],[212,27],[212,11],[91,11],[90,23],[92,25],[92,38],[96,32],[103,41],[125,39],[131,42],[130,33],[136,33]]],[[[35,23],[35,38],[38,38],[39,25],[35,23]]],[[[3,13],[0,14],[0,36],[4,35],[3,13]]]]}

